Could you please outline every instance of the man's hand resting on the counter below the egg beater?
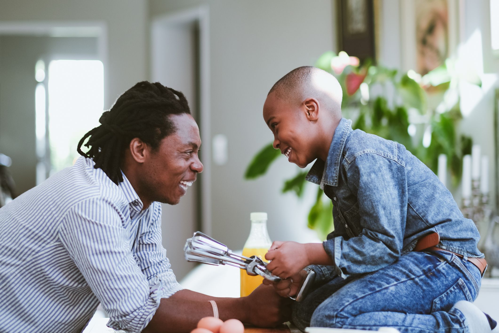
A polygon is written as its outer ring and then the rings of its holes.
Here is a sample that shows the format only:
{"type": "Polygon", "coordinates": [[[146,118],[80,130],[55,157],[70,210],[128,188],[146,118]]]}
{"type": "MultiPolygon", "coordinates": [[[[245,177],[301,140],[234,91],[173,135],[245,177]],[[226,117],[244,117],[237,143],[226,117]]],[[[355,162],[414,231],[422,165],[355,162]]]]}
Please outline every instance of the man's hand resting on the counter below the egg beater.
{"type": "Polygon", "coordinates": [[[248,324],[275,327],[291,319],[290,299],[280,297],[274,288],[260,285],[245,297],[248,324]]]}

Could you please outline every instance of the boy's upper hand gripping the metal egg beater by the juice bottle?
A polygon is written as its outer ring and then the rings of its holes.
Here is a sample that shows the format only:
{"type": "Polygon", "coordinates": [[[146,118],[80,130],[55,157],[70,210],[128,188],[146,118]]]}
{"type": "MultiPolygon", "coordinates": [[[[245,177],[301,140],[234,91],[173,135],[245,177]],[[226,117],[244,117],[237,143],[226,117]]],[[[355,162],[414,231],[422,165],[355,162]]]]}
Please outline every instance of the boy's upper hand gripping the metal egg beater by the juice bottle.
{"type": "Polygon", "coordinates": [[[265,259],[270,260],[267,269],[281,279],[295,276],[310,265],[305,244],[296,242],[273,242],[265,259]]]}

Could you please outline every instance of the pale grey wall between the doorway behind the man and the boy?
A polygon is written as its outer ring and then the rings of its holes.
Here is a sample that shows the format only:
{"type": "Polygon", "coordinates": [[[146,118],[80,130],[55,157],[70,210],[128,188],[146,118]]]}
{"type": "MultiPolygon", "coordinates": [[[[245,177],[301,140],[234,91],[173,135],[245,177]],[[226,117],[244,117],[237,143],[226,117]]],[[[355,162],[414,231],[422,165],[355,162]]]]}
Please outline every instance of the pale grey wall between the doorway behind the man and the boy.
{"type": "MultiPolygon", "coordinates": [[[[212,165],[212,236],[242,248],[250,212],[263,211],[272,240],[315,239],[306,228],[310,205],[280,194],[283,180],[297,167],[281,158],[256,181],[243,175],[256,151],[272,140],[262,118],[270,87],[291,69],[313,65],[322,52],[335,49],[332,1],[151,0],[150,16],[200,4],[210,12],[212,136],[229,139],[228,163],[212,165]]],[[[307,200],[314,200],[313,190],[307,200]]]]}

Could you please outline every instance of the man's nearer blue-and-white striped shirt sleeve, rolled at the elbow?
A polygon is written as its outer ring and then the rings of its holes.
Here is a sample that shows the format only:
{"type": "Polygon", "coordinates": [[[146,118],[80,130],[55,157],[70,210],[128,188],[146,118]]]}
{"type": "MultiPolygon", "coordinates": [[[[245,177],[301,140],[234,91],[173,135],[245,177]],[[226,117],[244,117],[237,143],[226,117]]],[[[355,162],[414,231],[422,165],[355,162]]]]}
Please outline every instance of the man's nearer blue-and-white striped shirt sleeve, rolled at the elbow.
{"type": "Polygon", "coordinates": [[[112,201],[93,198],[72,207],[59,238],[93,294],[109,314],[113,329],[141,332],[156,312],[164,290],[151,288],[134,259],[112,201]]]}

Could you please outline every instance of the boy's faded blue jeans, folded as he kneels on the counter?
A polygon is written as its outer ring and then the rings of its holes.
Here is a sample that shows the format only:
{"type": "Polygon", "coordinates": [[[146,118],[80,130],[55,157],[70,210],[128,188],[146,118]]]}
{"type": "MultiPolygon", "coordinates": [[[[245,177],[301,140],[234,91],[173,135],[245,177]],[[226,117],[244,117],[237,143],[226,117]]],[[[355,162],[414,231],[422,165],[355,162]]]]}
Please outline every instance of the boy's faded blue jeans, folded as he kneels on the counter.
{"type": "Polygon", "coordinates": [[[404,333],[469,332],[456,302],[473,302],[481,285],[479,269],[451,253],[409,252],[377,272],[335,277],[293,305],[293,323],[404,333]]]}

